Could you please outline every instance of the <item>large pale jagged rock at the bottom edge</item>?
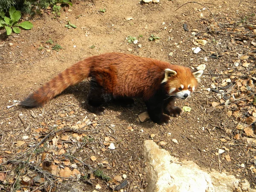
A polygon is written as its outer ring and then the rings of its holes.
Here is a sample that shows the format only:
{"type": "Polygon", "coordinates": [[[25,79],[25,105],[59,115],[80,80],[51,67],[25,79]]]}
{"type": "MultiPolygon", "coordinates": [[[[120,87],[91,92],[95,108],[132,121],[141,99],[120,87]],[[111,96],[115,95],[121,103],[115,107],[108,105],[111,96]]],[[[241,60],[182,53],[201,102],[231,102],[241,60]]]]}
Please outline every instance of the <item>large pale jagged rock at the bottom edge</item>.
{"type": "MultiPolygon", "coordinates": [[[[242,191],[233,175],[207,172],[192,161],[179,162],[153,140],[143,143],[147,192],[233,192],[242,191]]],[[[247,189],[256,192],[254,189],[247,189]]]]}

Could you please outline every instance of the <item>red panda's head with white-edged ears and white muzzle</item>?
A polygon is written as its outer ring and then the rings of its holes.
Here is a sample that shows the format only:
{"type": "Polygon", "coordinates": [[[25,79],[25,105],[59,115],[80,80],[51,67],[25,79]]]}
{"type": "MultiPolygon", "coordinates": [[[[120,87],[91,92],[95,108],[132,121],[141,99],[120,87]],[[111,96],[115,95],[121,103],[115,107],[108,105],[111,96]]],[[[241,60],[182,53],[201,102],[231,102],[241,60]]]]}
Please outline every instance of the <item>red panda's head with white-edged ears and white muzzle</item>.
{"type": "Polygon", "coordinates": [[[187,67],[165,69],[165,77],[161,83],[166,83],[168,95],[186,99],[196,89],[203,72],[203,70],[192,72],[187,67]]]}

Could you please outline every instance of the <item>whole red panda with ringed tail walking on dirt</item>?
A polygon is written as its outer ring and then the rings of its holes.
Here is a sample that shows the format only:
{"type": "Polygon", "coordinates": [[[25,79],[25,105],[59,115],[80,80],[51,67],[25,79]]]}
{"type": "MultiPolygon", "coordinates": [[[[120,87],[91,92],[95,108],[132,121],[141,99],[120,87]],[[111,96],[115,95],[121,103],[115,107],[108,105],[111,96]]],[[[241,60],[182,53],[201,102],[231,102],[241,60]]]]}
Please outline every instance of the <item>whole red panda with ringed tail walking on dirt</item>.
{"type": "Polygon", "coordinates": [[[181,115],[182,110],[174,105],[175,100],[186,99],[196,89],[202,73],[202,70],[192,72],[188,67],[152,58],[105,53],[73,64],[20,105],[28,108],[42,106],[67,87],[90,78],[89,111],[102,115],[105,113],[102,105],[106,102],[113,100],[130,106],[134,98],[142,98],[151,120],[166,125],[170,122],[169,116],[181,115]]]}

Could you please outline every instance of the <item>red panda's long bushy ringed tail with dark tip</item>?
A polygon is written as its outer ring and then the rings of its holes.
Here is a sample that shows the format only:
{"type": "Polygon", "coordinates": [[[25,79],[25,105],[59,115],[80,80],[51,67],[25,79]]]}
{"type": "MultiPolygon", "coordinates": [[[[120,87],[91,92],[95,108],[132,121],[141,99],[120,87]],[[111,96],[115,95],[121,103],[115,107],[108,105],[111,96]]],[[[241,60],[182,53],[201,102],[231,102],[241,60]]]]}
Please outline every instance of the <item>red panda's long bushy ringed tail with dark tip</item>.
{"type": "Polygon", "coordinates": [[[78,84],[87,78],[90,74],[90,65],[88,58],[84,59],[84,61],[79,61],[44,84],[44,86],[40,87],[24,101],[20,102],[20,105],[27,108],[44,105],[67,89],[67,87],[78,84]]]}

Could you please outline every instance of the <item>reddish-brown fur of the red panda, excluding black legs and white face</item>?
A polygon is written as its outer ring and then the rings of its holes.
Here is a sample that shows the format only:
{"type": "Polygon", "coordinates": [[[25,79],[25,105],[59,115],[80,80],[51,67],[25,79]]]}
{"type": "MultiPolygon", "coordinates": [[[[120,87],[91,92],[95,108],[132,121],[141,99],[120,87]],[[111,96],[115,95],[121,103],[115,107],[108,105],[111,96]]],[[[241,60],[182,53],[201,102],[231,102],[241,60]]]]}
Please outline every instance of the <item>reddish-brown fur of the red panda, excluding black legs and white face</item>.
{"type": "Polygon", "coordinates": [[[159,89],[166,68],[177,72],[177,76],[171,77],[170,81],[166,83],[166,91],[170,86],[185,85],[185,82],[189,82],[189,84],[193,82],[193,86],[196,87],[197,81],[187,67],[151,58],[112,52],[79,61],[35,91],[21,102],[21,105],[27,107],[44,105],[70,85],[77,84],[88,77],[95,78],[113,96],[142,97],[144,100],[148,100],[159,89]]]}

